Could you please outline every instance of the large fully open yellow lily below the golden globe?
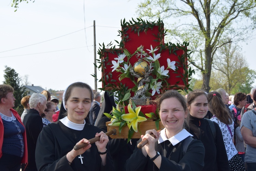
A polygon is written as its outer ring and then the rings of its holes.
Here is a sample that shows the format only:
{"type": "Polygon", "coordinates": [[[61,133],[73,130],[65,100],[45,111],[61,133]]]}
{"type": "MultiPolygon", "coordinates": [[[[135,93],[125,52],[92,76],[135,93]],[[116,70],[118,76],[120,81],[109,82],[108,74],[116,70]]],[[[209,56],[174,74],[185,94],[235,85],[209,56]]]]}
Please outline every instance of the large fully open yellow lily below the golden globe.
{"type": "Polygon", "coordinates": [[[140,109],[141,109],[141,106],[138,106],[136,109],[135,109],[135,112],[133,111],[132,107],[130,104],[128,104],[128,114],[123,114],[121,117],[123,120],[125,121],[129,121],[130,123],[127,124],[129,129],[131,128],[132,126],[132,129],[135,131],[135,132],[138,132],[138,122],[143,122],[145,120],[147,120],[145,117],[142,117],[142,116],[139,116],[139,113],[140,113],[140,109]]]}

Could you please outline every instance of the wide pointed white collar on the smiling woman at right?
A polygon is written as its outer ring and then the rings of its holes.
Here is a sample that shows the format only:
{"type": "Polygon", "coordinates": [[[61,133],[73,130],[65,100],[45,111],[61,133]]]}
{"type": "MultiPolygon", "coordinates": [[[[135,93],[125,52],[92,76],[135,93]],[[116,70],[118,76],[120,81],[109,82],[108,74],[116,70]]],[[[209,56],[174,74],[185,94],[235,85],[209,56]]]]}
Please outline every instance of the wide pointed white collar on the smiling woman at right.
{"type": "Polygon", "coordinates": [[[165,133],[165,129],[166,128],[164,128],[163,130],[160,131],[160,137],[158,139],[158,144],[160,144],[160,143],[162,143],[162,142],[164,142],[166,140],[169,140],[172,143],[172,145],[176,145],[177,143],[181,142],[182,140],[184,140],[188,136],[193,137],[193,135],[191,135],[186,129],[182,129],[175,136],[167,139],[166,133],[165,133]]]}

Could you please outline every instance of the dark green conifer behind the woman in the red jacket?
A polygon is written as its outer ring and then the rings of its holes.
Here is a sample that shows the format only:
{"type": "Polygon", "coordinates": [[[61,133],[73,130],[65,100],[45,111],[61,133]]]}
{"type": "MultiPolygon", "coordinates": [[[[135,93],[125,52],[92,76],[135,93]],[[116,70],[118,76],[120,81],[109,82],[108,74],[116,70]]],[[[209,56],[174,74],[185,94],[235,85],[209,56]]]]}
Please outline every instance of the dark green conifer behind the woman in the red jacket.
{"type": "Polygon", "coordinates": [[[19,74],[14,69],[5,66],[3,77],[5,79],[3,84],[9,84],[14,88],[13,95],[16,99],[14,109],[23,109],[22,104],[20,104],[20,100],[23,98],[25,89],[22,89],[22,85],[19,85],[21,82],[19,74]]]}

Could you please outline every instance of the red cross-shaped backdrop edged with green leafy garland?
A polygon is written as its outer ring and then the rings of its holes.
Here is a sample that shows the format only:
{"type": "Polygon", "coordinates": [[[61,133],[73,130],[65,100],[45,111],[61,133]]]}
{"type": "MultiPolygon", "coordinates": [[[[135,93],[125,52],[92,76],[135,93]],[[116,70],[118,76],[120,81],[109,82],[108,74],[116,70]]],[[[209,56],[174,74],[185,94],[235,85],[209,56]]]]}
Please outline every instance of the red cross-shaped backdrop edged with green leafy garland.
{"type": "MultiPolygon", "coordinates": [[[[102,48],[99,51],[101,54],[101,81],[103,90],[108,91],[112,90],[113,87],[117,88],[120,86],[120,83],[125,84],[128,88],[136,86],[130,78],[124,78],[119,81],[118,78],[120,76],[120,72],[112,72],[113,64],[111,61],[114,60],[114,58],[117,58],[120,53],[124,53],[124,50],[133,54],[141,45],[144,46],[144,51],[145,49],[151,49],[151,45],[153,47],[158,47],[156,53],[161,54],[158,61],[160,66],[164,66],[164,68],[167,68],[168,66],[168,58],[171,61],[176,61],[175,66],[177,66],[177,69],[175,71],[169,70],[169,77],[166,78],[168,86],[165,86],[164,89],[184,89],[188,87],[188,75],[187,72],[185,72],[187,70],[186,47],[183,49],[181,48],[183,46],[173,48],[170,47],[170,44],[165,44],[163,24],[153,25],[151,28],[144,28],[144,26],[136,24],[122,25],[122,31],[119,32],[122,37],[122,41],[120,43],[122,48],[102,48]]],[[[127,58],[124,60],[127,61],[127,58]]],[[[136,58],[136,55],[129,59],[132,66],[137,61],[138,59],[136,58]]],[[[137,81],[136,77],[134,77],[134,81],[137,81]]],[[[133,96],[133,94],[131,96],[133,96]]]]}

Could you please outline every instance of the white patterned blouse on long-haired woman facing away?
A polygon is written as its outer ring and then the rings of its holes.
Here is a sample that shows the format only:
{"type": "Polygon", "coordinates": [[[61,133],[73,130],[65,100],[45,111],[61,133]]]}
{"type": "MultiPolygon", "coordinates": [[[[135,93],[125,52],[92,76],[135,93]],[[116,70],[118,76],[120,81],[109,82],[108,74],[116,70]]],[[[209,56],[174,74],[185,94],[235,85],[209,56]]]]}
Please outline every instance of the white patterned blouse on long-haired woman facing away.
{"type": "Polygon", "coordinates": [[[234,136],[234,122],[232,121],[232,124],[228,125],[231,130],[231,133],[232,133],[232,136],[231,136],[228,126],[226,124],[219,121],[217,117],[212,117],[211,120],[213,122],[217,123],[219,125],[219,128],[221,128],[226,152],[228,155],[228,160],[230,160],[234,155],[236,155],[238,153],[236,146],[234,145],[234,143],[232,141],[232,137],[234,136]]]}

